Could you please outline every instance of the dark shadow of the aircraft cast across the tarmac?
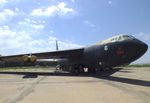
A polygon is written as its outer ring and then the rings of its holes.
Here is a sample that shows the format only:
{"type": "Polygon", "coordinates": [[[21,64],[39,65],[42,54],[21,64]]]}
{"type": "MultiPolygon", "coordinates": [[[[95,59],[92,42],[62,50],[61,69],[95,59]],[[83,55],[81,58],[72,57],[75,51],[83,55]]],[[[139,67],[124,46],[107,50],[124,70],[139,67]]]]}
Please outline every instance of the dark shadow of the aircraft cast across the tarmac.
{"type": "MultiPolygon", "coordinates": [[[[67,76],[67,77],[93,77],[100,80],[108,80],[108,81],[115,81],[120,83],[127,83],[132,85],[139,85],[139,86],[146,86],[150,87],[150,81],[145,80],[138,80],[138,79],[131,79],[131,78],[123,78],[123,77],[117,77],[112,76],[112,74],[116,72],[120,72],[123,68],[115,68],[112,70],[107,70],[103,72],[98,73],[84,73],[84,74],[75,74],[75,73],[62,73],[62,72],[12,72],[12,71],[2,71],[0,74],[15,74],[15,75],[23,75],[23,79],[27,78],[37,78],[38,76],[67,76]]],[[[121,71],[124,73],[130,73],[126,71],[121,71]]],[[[84,82],[84,81],[83,81],[84,82]]],[[[99,82],[99,81],[97,81],[99,82]]]]}

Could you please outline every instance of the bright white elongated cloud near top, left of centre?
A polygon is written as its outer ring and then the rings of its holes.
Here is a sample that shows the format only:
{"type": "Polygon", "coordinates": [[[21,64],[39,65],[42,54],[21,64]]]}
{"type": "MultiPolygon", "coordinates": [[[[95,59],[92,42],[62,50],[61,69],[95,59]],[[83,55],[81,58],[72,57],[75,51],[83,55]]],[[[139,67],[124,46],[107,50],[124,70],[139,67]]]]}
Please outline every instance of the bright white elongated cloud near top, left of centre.
{"type": "Polygon", "coordinates": [[[63,16],[68,13],[73,13],[72,8],[66,7],[66,3],[59,2],[57,5],[49,6],[47,8],[34,9],[31,13],[32,16],[63,16]]]}

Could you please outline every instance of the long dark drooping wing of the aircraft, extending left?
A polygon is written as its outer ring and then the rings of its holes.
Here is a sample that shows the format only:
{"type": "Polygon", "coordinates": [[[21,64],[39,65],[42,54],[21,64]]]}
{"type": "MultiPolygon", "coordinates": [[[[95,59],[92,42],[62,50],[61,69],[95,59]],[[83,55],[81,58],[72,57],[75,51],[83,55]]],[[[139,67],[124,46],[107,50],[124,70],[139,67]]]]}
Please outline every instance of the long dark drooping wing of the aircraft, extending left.
{"type": "Polygon", "coordinates": [[[42,52],[42,53],[32,53],[32,54],[19,54],[19,55],[9,55],[9,56],[0,56],[2,61],[23,61],[23,56],[33,55],[37,59],[59,59],[59,58],[78,58],[83,54],[84,48],[79,49],[70,49],[70,50],[59,50],[51,52],[42,52]]]}

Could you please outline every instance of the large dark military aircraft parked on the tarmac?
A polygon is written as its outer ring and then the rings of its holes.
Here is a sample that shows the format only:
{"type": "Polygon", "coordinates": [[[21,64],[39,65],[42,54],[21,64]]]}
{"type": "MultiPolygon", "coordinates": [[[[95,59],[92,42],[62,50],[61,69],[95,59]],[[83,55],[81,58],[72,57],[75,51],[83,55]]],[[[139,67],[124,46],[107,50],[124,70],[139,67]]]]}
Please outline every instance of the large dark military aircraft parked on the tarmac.
{"type": "Polygon", "coordinates": [[[117,35],[95,45],[56,51],[0,56],[1,61],[36,62],[38,59],[55,59],[59,68],[69,72],[82,73],[104,70],[130,64],[140,58],[148,45],[131,35],[117,35]]]}

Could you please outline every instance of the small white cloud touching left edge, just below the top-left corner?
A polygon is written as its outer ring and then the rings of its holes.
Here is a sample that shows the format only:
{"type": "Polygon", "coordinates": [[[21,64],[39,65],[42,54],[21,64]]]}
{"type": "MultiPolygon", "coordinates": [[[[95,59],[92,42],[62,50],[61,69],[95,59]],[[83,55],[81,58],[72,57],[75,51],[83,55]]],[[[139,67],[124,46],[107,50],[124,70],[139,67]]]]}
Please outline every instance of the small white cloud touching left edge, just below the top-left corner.
{"type": "Polygon", "coordinates": [[[4,9],[0,12],[0,23],[9,20],[12,16],[15,15],[15,12],[10,9],[4,9]]]}

